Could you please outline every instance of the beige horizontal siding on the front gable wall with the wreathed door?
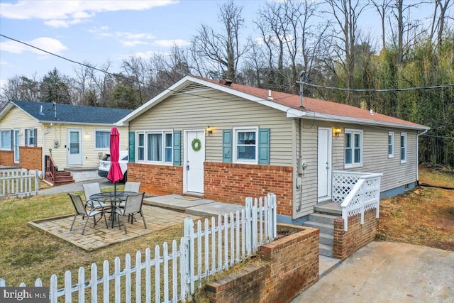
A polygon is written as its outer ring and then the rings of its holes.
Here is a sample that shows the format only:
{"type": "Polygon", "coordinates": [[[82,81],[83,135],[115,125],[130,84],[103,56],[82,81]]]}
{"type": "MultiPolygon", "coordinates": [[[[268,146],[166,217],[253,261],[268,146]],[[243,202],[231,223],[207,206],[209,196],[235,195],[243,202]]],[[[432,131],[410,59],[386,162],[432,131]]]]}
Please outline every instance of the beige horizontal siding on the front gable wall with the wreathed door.
{"type": "Polygon", "coordinates": [[[293,122],[284,112],[216,89],[195,88],[185,89],[188,94],[174,94],[141,114],[131,121],[130,131],[184,131],[211,126],[213,133],[206,134],[205,160],[222,162],[223,129],[270,128],[270,165],[292,166],[293,122]]]}

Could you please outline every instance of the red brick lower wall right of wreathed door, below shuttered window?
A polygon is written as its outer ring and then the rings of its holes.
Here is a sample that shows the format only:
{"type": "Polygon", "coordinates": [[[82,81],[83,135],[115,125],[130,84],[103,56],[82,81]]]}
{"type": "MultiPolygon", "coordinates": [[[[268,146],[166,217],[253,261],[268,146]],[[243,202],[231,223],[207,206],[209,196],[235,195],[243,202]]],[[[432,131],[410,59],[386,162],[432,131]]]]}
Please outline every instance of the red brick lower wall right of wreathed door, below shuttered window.
{"type": "Polygon", "coordinates": [[[277,214],[292,216],[293,167],[204,162],[204,198],[243,205],[276,194],[277,214]]]}

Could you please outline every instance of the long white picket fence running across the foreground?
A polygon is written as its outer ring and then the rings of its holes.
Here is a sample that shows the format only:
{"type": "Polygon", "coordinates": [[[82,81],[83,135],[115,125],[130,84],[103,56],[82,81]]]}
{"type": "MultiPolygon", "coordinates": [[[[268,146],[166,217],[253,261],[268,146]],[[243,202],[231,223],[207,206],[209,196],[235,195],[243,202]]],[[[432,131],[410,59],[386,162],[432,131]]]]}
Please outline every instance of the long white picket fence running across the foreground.
{"type": "MultiPolygon", "coordinates": [[[[184,221],[184,236],[179,244],[172,241],[155,246],[154,258],[150,248],[135,254],[135,265],[127,254],[122,268],[120,258],[114,260],[114,272],[104,260],[101,277],[98,267],[92,264],[90,278],[79,268],[76,284],[72,272],[65,272],[64,286],[59,288],[57,275],[50,277],[50,302],[186,302],[192,299],[196,287],[200,288],[209,277],[250,258],[258,248],[277,236],[276,196],[268,194],[260,199],[246,198],[245,209],[236,214],[194,221],[184,221]],[[98,289],[101,285],[101,290],[98,289]],[[113,291],[111,291],[113,289],[113,291]],[[91,291],[90,291],[91,290],[91,291]],[[87,294],[87,297],[86,297],[87,294]]],[[[0,287],[6,281],[0,279],[0,287]]],[[[25,287],[24,283],[19,285],[25,287]]],[[[35,286],[45,286],[42,280],[35,286]]]]}

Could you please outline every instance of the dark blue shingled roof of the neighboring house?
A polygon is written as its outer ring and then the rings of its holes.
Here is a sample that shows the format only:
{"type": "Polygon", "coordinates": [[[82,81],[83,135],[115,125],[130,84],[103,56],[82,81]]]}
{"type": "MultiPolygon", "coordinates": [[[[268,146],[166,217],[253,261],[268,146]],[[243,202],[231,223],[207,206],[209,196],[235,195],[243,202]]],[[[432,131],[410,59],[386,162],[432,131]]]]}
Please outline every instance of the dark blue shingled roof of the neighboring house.
{"type": "Polygon", "coordinates": [[[131,113],[131,109],[54,104],[48,102],[11,101],[41,122],[113,124],[131,113]],[[43,106],[41,108],[41,106],[43,106]]]}

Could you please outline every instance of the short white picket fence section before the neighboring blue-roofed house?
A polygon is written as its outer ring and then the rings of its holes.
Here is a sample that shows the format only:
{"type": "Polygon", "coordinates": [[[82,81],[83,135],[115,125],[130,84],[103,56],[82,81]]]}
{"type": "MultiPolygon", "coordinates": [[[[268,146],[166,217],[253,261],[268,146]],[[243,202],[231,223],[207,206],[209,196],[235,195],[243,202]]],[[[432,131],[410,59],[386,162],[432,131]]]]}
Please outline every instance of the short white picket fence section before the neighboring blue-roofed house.
{"type": "Polygon", "coordinates": [[[38,170],[0,170],[0,197],[38,194],[38,170]]]}

